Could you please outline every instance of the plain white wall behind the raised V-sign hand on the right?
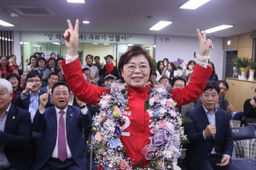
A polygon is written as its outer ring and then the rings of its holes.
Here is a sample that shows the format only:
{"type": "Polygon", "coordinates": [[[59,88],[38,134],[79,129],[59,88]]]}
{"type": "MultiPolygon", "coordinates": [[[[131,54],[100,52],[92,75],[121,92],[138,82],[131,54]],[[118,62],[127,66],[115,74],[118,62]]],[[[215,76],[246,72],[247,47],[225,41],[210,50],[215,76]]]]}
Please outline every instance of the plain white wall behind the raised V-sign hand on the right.
{"type": "MultiPolygon", "coordinates": [[[[210,39],[210,37],[207,37],[210,39]]],[[[215,71],[218,74],[218,79],[223,78],[224,71],[224,52],[223,52],[223,38],[214,37],[212,40],[214,45],[213,50],[210,50],[210,60],[215,66],[215,71]]],[[[157,36],[156,48],[155,48],[155,60],[162,60],[164,58],[169,61],[177,60],[177,58],[183,59],[183,66],[185,62],[194,59],[199,51],[198,37],[177,37],[177,36],[157,36]],[[169,42],[166,42],[166,37],[169,37],[169,42]],[[162,41],[161,41],[162,40],[162,41]]]]}

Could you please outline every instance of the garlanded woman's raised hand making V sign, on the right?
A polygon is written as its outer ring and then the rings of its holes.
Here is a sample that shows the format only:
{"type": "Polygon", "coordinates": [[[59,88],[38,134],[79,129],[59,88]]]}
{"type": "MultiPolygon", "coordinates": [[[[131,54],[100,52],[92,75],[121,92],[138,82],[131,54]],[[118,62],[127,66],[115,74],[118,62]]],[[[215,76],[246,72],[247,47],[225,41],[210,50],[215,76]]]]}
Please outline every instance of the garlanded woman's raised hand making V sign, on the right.
{"type": "Polygon", "coordinates": [[[208,56],[209,49],[213,49],[212,41],[207,39],[206,31],[204,31],[203,36],[201,36],[200,30],[197,28],[197,34],[199,39],[199,54],[201,56],[208,56]]]}

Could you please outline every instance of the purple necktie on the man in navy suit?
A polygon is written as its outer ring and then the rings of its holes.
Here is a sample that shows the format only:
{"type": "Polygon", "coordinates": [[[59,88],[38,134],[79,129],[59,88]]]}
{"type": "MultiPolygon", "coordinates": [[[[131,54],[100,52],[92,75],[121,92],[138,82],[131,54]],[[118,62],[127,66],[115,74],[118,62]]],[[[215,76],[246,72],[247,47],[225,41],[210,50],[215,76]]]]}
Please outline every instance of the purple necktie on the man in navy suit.
{"type": "Polygon", "coordinates": [[[67,158],[67,144],[65,135],[65,121],[63,114],[65,111],[60,111],[61,114],[59,119],[59,133],[58,133],[58,156],[61,161],[65,161],[67,158]]]}

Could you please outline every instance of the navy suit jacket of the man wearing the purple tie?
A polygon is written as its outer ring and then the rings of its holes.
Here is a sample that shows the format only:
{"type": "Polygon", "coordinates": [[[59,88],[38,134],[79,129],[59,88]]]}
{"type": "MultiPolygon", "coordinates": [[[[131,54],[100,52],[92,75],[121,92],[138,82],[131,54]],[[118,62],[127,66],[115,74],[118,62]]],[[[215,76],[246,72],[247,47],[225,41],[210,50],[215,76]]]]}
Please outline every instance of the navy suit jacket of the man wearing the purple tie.
{"type": "MultiPolygon", "coordinates": [[[[88,129],[91,123],[90,116],[83,115],[79,107],[67,106],[66,130],[67,144],[76,164],[86,169],[86,150],[83,139],[83,128],[88,129]]],[[[38,147],[38,155],[34,164],[34,169],[38,170],[51,157],[57,137],[57,116],[55,107],[45,109],[44,114],[37,111],[32,123],[32,130],[42,132],[42,138],[38,147]]]]}

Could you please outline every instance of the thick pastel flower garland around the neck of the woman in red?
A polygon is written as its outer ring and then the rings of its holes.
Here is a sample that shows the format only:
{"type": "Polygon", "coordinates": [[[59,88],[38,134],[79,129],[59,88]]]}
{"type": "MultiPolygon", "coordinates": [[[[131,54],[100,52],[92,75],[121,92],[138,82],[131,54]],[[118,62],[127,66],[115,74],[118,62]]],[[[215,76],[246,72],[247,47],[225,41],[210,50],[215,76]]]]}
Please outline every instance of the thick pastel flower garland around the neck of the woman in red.
{"type": "Polygon", "coordinates": [[[172,100],[171,87],[156,85],[149,88],[150,94],[145,109],[154,112],[152,119],[154,144],[148,144],[142,150],[148,167],[132,168],[133,161],[125,158],[125,148],[120,138],[119,123],[125,121],[122,114],[128,110],[127,88],[125,84],[114,80],[108,83],[109,94],[103,94],[99,105],[100,113],[93,118],[93,130],[96,136],[90,144],[96,153],[99,165],[104,170],[111,169],[171,169],[175,170],[177,158],[181,156],[182,142],[186,140],[180,114],[175,112],[177,105],[172,100]]]}

